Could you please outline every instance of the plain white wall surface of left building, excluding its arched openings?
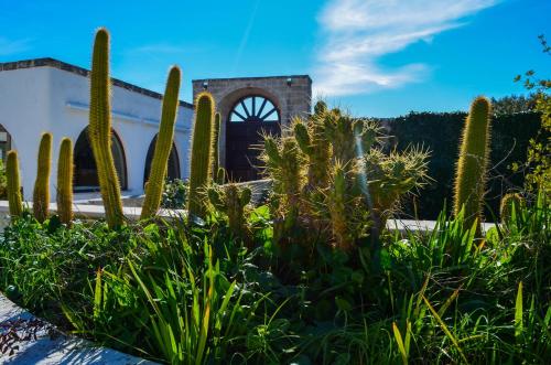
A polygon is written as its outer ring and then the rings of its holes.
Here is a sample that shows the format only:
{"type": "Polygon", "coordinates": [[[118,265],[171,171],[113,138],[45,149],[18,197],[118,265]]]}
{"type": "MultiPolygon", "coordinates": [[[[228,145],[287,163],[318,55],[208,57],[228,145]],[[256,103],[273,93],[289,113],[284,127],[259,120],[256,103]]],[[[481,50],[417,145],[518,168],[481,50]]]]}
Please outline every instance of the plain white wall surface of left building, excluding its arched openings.
{"type": "MultiPolygon", "coordinates": [[[[143,192],[145,155],[159,129],[161,100],[114,86],[112,128],[127,159],[126,194],[143,192]]],[[[36,174],[36,154],[43,131],[53,133],[51,195],[55,201],[55,176],[60,141],[73,143],[88,125],[89,80],[87,77],[54,67],[33,67],[0,72],[0,124],[12,137],[18,150],[24,198],[32,198],[36,174]]],[[[179,108],[174,142],[182,176],[188,173],[187,151],[193,110],[179,108]]]]}

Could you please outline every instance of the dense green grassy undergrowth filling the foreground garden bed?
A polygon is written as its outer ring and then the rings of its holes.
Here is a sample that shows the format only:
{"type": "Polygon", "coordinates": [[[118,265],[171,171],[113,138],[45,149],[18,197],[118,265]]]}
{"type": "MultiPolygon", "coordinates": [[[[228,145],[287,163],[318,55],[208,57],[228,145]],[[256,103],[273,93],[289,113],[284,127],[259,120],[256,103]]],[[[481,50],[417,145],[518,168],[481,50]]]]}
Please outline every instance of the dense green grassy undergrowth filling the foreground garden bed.
{"type": "Polygon", "coordinates": [[[44,224],[0,240],[0,290],[99,343],[172,364],[537,363],[551,356],[551,210],[543,194],[483,243],[463,216],[372,249],[316,247],[299,280],[276,268],[269,210],[253,247],[202,226],[44,224]]]}

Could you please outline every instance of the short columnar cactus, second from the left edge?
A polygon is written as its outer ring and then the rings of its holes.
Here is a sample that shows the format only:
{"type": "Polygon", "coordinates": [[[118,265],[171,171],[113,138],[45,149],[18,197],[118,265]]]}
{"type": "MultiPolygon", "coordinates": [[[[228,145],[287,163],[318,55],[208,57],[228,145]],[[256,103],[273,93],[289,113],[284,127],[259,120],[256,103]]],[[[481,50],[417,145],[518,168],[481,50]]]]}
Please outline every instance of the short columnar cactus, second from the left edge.
{"type": "Polygon", "coordinates": [[[52,164],[52,133],[42,133],[39,147],[36,180],[33,191],[33,214],[40,223],[46,221],[50,205],[50,167],[52,164]]]}

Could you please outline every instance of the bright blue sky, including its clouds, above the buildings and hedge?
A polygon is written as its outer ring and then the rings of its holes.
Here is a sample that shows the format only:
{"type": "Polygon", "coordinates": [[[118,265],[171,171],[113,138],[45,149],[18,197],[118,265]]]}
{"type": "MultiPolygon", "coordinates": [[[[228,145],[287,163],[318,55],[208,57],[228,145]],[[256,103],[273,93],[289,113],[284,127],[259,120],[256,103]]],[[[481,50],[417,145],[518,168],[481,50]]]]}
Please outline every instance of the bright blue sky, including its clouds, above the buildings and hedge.
{"type": "Polygon", "coordinates": [[[51,56],[89,68],[111,32],[112,76],[158,92],[191,79],[309,74],[314,96],[361,116],[465,110],[549,76],[551,0],[0,0],[0,62],[51,56]]]}

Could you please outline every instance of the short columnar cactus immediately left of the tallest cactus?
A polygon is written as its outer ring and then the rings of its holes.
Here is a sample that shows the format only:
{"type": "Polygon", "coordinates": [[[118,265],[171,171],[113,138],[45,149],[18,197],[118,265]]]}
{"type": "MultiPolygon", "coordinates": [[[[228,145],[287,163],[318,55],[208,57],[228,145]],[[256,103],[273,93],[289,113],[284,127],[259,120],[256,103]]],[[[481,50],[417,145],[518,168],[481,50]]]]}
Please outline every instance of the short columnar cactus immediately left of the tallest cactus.
{"type": "Polygon", "coordinates": [[[73,142],[62,139],[57,160],[57,214],[67,226],[73,222],[73,142]]]}

